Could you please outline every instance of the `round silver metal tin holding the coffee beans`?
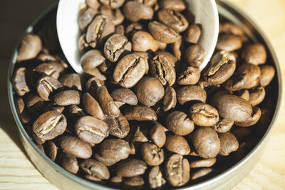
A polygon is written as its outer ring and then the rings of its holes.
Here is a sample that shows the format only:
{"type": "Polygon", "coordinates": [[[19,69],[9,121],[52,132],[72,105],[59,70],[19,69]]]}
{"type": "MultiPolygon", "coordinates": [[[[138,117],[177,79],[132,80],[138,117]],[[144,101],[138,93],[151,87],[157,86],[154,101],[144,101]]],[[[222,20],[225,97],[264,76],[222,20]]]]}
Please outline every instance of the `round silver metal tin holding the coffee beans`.
{"type": "MultiPolygon", "coordinates": [[[[259,41],[263,43],[268,52],[267,63],[274,65],[276,68],[276,76],[274,80],[269,85],[266,92],[266,101],[263,103],[263,107],[268,108],[271,111],[269,125],[264,127],[264,130],[260,132],[259,137],[255,140],[254,147],[249,150],[245,157],[235,160],[229,164],[227,167],[219,169],[220,171],[212,172],[209,176],[199,179],[197,181],[190,182],[188,186],[182,187],[180,189],[230,189],[241,181],[244,176],[246,176],[249,171],[257,163],[258,159],[261,157],[261,153],[266,144],[266,139],[269,136],[274,122],[276,121],[276,116],[279,112],[280,101],[281,101],[281,73],[279,68],[279,63],[271,47],[268,39],[257,25],[249,19],[249,17],[242,13],[237,7],[229,4],[224,0],[217,0],[218,10],[220,19],[226,19],[242,26],[246,31],[247,35],[252,39],[252,41],[259,41]],[[272,89],[272,90],[271,90],[272,89]]],[[[26,33],[33,31],[33,27],[39,23],[44,16],[51,11],[55,11],[57,4],[53,4],[49,9],[46,9],[38,18],[33,21],[31,26],[28,26],[26,33]]],[[[20,41],[19,41],[20,43],[20,41]]],[[[18,44],[19,46],[19,44],[18,44]]],[[[14,66],[16,63],[17,50],[14,51],[11,63],[9,65],[8,74],[8,93],[9,102],[11,110],[13,112],[16,124],[19,127],[20,139],[24,145],[26,153],[31,159],[31,162],[36,166],[36,168],[41,171],[41,174],[46,177],[52,184],[57,186],[59,189],[112,189],[108,186],[103,186],[100,184],[95,184],[93,182],[82,179],[70,172],[66,171],[62,167],[58,166],[55,162],[52,162],[43,152],[36,147],[33,143],[31,137],[28,136],[24,126],[21,124],[21,120],[16,112],[15,102],[14,102],[14,90],[11,84],[11,78],[14,71],[14,66]]]]}

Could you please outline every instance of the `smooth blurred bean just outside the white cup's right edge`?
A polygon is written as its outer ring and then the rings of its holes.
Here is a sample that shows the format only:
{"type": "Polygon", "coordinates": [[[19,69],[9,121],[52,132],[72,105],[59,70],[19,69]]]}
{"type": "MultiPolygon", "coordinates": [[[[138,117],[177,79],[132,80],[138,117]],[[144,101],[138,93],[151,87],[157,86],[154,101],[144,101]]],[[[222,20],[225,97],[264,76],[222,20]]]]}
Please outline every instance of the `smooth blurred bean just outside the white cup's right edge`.
{"type": "Polygon", "coordinates": [[[219,35],[216,48],[221,51],[232,52],[242,48],[242,38],[234,35],[219,35]]]}

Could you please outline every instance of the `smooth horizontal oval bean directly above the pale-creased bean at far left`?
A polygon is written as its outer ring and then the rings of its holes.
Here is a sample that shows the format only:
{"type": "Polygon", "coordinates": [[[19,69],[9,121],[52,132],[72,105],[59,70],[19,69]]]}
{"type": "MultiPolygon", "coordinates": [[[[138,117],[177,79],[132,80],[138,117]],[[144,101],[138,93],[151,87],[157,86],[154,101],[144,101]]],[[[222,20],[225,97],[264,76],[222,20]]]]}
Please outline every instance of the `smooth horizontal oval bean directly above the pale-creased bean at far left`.
{"type": "Polygon", "coordinates": [[[76,90],[64,90],[53,96],[56,105],[79,105],[81,102],[80,93],[76,90]]]}

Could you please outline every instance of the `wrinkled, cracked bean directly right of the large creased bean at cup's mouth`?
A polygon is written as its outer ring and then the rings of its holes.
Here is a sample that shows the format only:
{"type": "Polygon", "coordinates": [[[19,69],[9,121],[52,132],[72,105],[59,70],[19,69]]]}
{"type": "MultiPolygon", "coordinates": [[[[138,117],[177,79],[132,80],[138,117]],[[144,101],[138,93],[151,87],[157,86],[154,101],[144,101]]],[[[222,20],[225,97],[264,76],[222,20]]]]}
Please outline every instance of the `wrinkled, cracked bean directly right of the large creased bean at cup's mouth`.
{"type": "Polygon", "coordinates": [[[175,63],[177,58],[168,52],[157,53],[150,60],[150,73],[153,77],[158,78],[162,85],[172,86],[176,80],[175,63]]]}

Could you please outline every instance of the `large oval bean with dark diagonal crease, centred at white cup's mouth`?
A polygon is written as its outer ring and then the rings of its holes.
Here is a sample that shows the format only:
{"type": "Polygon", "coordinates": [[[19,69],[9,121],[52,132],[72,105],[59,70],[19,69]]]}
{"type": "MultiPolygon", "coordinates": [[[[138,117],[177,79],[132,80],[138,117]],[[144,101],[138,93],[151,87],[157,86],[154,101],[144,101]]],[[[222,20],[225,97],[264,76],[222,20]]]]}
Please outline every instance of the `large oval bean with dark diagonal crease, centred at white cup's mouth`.
{"type": "Polygon", "coordinates": [[[113,79],[124,88],[132,88],[145,75],[145,58],[132,53],[116,65],[113,79]]]}

